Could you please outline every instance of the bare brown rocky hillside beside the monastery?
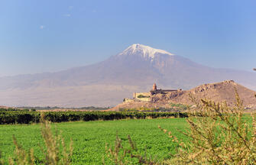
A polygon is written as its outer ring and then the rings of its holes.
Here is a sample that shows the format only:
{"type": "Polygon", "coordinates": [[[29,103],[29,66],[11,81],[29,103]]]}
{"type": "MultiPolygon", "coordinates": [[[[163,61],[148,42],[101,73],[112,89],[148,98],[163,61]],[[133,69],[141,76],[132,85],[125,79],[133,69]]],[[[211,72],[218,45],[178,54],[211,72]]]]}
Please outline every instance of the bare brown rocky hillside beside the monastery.
{"type": "Polygon", "coordinates": [[[245,88],[232,80],[209,83],[186,91],[167,92],[165,94],[151,95],[150,102],[123,102],[109,110],[118,111],[119,108],[169,108],[170,102],[193,105],[190,101],[190,94],[197,99],[211,99],[215,102],[227,102],[228,105],[235,105],[235,89],[243,100],[245,107],[256,108],[256,92],[245,88]]]}

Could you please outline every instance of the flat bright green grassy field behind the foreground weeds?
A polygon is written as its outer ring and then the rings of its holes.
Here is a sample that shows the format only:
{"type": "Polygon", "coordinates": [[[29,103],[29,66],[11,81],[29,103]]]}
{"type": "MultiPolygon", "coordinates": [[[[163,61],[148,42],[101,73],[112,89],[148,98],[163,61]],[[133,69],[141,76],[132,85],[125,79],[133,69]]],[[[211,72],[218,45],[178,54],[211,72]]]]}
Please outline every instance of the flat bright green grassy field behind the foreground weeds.
{"type": "MultiPolygon", "coordinates": [[[[176,146],[157,125],[172,131],[177,137],[186,138],[177,132],[177,128],[184,130],[187,127],[185,118],[63,122],[53,124],[52,128],[56,126],[61,131],[66,144],[73,139],[73,164],[101,164],[102,157],[105,157],[105,163],[112,164],[106,157],[105,144],[114,145],[117,134],[127,146],[130,134],[141,153],[147,147],[147,154],[157,160],[170,158],[176,146]]],[[[13,134],[24,149],[32,147],[36,157],[44,157],[40,147],[44,146],[40,125],[0,125],[0,150],[5,160],[15,149],[13,134]]]]}

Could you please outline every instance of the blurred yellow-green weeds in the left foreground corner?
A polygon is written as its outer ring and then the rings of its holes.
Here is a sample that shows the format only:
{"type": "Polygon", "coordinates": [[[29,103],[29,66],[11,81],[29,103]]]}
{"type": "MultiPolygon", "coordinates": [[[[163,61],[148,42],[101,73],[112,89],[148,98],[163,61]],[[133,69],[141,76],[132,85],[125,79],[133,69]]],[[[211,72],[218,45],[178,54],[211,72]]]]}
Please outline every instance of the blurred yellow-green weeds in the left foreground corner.
{"type": "MultiPolygon", "coordinates": [[[[45,158],[40,161],[34,157],[34,150],[31,148],[28,152],[25,151],[20,144],[18,144],[17,139],[13,135],[13,142],[15,144],[14,157],[10,157],[9,164],[36,164],[41,162],[47,165],[68,165],[71,163],[71,156],[73,154],[73,143],[70,142],[70,147],[67,148],[60,134],[53,134],[50,127],[50,121],[44,119],[44,115],[41,116],[41,134],[44,138],[44,144],[47,150],[42,150],[44,152],[45,158]]],[[[1,157],[0,157],[1,158],[1,157]]],[[[3,160],[1,161],[4,164],[3,160]]],[[[1,164],[0,163],[0,164],[1,164]]]]}

